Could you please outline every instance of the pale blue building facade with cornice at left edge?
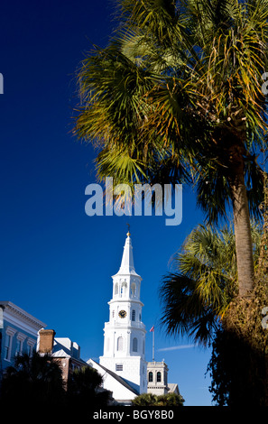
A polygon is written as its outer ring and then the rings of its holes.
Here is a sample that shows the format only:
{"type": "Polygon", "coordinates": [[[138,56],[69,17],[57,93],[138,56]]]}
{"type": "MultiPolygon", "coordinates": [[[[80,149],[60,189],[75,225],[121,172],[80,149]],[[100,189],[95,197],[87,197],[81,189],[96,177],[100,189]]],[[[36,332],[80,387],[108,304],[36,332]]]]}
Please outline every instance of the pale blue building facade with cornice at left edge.
{"type": "Polygon", "coordinates": [[[11,301],[0,301],[0,379],[5,368],[14,365],[16,355],[32,355],[38,331],[46,324],[11,301]]]}

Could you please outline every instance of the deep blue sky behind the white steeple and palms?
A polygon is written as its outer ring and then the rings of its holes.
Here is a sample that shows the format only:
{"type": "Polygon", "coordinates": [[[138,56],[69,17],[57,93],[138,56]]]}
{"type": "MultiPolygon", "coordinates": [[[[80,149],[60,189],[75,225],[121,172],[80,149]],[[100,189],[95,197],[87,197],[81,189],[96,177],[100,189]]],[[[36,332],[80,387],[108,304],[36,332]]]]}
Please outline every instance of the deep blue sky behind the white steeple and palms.
{"type": "Polygon", "coordinates": [[[105,46],[115,23],[108,0],[3,0],[0,14],[1,237],[0,300],[11,300],[81,346],[103,354],[103,327],[120,266],[126,223],[147,328],[146,359],[170,368],[185,405],[210,405],[210,351],[160,326],[158,289],[170,260],[203,221],[183,187],[180,226],[165,217],[88,217],[85,189],[96,182],[90,145],[71,134],[78,104],[75,70],[92,44],[105,46]]]}

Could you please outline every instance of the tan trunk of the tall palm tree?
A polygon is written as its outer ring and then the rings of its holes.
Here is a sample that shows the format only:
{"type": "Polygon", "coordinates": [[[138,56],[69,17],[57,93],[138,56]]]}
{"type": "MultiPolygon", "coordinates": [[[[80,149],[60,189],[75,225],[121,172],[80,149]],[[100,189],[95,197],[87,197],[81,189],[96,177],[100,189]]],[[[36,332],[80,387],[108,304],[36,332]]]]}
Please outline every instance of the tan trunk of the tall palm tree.
{"type": "Polygon", "coordinates": [[[245,189],[243,146],[233,144],[229,149],[229,183],[232,191],[238,296],[250,296],[254,289],[254,259],[248,198],[245,189]]]}

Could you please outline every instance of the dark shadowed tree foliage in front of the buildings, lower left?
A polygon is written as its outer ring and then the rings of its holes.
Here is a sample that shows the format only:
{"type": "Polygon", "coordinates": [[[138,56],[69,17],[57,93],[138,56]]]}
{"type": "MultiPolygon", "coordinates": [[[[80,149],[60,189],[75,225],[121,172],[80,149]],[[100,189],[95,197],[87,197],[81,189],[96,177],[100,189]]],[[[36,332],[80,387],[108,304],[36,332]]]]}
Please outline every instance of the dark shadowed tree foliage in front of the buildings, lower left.
{"type": "Polygon", "coordinates": [[[60,363],[51,355],[18,355],[14,366],[5,369],[0,381],[1,417],[21,418],[22,410],[32,407],[39,417],[70,419],[88,417],[90,410],[111,404],[111,392],[101,388],[102,377],[89,366],[69,374],[64,384],[60,363]],[[15,405],[15,408],[14,408],[15,405]],[[85,415],[87,414],[87,415],[85,415]]]}

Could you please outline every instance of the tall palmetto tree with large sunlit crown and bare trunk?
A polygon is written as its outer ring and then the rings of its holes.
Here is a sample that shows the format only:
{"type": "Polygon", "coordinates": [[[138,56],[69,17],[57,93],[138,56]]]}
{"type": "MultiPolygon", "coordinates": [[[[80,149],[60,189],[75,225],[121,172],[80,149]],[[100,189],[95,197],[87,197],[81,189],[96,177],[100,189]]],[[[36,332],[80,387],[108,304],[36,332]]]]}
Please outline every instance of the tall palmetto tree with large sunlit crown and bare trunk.
{"type": "Polygon", "coordinates": [[[189,182],[210,221],[233,209],[238,294],[254,288],[250,214],[263,194],[268,0],[118,0],[120,23],[79,69],[75,134],[100,178],[189,182]]]}

